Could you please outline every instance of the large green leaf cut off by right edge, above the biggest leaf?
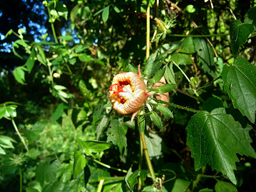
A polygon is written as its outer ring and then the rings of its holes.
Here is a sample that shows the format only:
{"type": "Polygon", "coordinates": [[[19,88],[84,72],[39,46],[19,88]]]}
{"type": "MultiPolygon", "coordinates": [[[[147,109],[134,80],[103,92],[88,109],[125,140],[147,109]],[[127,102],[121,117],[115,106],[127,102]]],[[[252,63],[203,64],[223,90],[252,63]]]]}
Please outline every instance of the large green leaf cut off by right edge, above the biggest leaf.
{"type": "Polygon", "coordinates": [[[237,58],[233,65],[224,65],[221,72],[223,84],[234,108],[255,122],[256,67],[244,58],[237,58]]]}

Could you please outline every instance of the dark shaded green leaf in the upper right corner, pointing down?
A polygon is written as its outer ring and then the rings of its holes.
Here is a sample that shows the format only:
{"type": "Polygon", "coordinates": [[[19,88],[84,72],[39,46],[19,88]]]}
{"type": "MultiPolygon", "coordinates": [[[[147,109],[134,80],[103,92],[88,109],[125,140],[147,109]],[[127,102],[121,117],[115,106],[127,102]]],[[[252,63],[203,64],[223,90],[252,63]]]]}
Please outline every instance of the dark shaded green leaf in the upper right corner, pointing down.
{"type": "Polygon", "coordinates": [[[241,20],[233,20],[230,24],[230,47],[237,57],[239,46],[245,44],[248,36],[254,31],[253,24],[243,24],[241,20]]]}

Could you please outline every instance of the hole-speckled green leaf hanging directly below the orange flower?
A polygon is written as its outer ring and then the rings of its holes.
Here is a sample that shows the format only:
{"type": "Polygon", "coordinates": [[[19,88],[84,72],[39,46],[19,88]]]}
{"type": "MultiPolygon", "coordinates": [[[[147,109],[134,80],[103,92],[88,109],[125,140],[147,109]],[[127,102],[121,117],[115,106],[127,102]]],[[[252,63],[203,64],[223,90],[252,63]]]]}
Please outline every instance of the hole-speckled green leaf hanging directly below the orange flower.
{"type": "Polygon", "coordinates": [[[127,153],[127,139],[126,134],[127,125],[119,120],[111,120],[110,126],[107,131],[108,141],[111,141],[119,149],[122,156],[126,156],[127,153]]]}

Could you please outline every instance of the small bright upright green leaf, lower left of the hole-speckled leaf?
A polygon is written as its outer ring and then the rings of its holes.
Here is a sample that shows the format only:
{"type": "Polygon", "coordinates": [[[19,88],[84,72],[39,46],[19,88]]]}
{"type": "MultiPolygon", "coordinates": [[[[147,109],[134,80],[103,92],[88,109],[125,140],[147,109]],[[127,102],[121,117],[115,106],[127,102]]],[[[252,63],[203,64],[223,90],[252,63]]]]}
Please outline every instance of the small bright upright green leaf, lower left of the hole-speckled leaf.
{"type": "Polygon", "coordinates": [[[86,160],[84,156],[79,151],[75,151],[74,154],[74,164],[73,164],[73,178],[76,179],[77,175],[79,175],[84,167],[86,166],[86,160]]]}

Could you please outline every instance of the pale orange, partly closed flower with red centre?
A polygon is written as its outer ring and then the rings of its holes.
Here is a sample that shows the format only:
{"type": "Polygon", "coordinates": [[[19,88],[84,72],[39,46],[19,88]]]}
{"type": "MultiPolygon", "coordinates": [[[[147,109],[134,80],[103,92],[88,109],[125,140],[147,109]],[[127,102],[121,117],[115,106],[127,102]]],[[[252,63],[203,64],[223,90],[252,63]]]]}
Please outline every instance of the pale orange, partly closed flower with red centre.
{"type": "Polygon", "coordinates": [[[132,113],[131,121],[150,96],[140,77],[140,66],[138,74],[134,72],[117,74],[109,89],[109,99],[113,108],[122,115],[132,113]]]}

